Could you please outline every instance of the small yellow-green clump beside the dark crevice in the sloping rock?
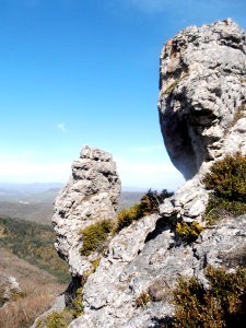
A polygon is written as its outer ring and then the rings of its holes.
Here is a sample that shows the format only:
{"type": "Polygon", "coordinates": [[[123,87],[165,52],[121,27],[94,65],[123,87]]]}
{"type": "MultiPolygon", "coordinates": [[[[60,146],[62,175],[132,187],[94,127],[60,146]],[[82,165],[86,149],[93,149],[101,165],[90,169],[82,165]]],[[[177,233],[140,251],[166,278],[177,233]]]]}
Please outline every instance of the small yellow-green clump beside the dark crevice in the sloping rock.
{"type": "Polygon", "coordinates": [[[186,243],[195,242],[203,227],[196,221],[194,222],[178,222],[176,225],[176,234],[186,243]]]}

